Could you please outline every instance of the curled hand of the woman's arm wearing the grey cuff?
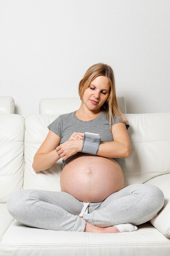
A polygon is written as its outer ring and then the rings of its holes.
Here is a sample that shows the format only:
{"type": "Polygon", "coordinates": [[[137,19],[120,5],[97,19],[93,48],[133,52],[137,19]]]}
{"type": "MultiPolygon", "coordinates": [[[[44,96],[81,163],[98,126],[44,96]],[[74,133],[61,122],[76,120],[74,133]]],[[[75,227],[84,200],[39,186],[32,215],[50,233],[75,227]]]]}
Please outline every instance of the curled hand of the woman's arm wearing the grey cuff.
{"type": "Polygon", "coordinates": [[[82,151],[83,140],[68,140],[56,147],[57,154],[65,161],[68,157],[82,151]]]}

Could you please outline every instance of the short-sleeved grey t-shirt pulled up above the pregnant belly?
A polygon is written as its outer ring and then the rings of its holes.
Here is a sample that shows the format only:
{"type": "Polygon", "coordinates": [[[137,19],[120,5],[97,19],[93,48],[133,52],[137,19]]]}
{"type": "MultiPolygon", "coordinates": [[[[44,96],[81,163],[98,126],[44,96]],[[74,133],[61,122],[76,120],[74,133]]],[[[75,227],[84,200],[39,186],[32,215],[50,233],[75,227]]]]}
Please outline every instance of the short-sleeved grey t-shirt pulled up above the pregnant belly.
{"type": "MultiPolygon", "coordinates": [[[[76,111],[60,115],[51,124],[49,124],[49,126],[47,126],[49,130],[52,130],[55,134],[61,137],[60,144],[67,141],[73,132],[97,133],[101,137],[101,142],[114,141],[112,132],[110,131],[109,121],[105,112],[101,112],[95,119],[90,121],[82,121],[78,119],[75,116],[75,112],[76,111]]],[[[117,118],[114,118],[113,125],[120,122],[124,122],[126,124],[126,129],[128,130],[129,124],[127,124],[123,119],[118,120],[117,118]]],[[[68,157],[65,161],[63,161],[63,167],[73,158],[84,154],[86,153],[78,152],[75,155],[68,157]]],[[[121,166],[121,158],[113,159],[117,161],[121,166]]]]}

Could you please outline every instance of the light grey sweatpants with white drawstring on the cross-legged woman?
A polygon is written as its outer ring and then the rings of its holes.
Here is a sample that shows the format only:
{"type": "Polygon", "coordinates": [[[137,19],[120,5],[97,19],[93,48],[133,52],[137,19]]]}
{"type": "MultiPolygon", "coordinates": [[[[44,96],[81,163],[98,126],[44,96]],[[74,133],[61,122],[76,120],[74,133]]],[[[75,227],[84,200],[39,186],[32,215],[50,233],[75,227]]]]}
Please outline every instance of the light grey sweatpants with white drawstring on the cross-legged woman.
{"type": "Polygon", "coordinates": [[[20,190],[10,195],[7,209],[29,227],[84,231],[86,221],[99,227],[121,223],[140,225],[157,215],[163,203],[163,192],[157,186],[132,184],[88,206],[62,191],[20,190]],[[82,209],[86,211],[79,218],[82,209]]]}

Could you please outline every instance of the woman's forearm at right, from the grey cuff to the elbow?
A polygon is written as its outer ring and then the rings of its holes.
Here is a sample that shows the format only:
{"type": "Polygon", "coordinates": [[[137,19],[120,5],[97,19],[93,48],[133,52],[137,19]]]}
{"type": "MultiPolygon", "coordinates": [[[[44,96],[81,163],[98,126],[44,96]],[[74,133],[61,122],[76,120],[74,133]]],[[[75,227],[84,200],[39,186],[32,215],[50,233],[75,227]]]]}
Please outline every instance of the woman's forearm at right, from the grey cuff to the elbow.
{"type": "Polygon", "coordinates": [[[130,155],[130,148],[118,141],[101,142],[97,155],[110,158],[124,158],[130,155]]]}

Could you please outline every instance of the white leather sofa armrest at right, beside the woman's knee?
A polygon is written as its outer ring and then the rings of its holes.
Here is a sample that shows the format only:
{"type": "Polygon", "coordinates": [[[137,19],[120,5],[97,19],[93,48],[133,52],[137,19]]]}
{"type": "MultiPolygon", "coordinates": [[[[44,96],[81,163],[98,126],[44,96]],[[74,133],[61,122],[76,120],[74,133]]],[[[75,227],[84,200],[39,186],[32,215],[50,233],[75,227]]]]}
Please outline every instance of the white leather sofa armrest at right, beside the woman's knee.
{"type": "Polygon", "coordinates": [[[152,184],[163,191],[165,202],[158,215],[150,223],[164,236],[170,238],[170,173],[163,174],[145,182],[152,184]]]}

